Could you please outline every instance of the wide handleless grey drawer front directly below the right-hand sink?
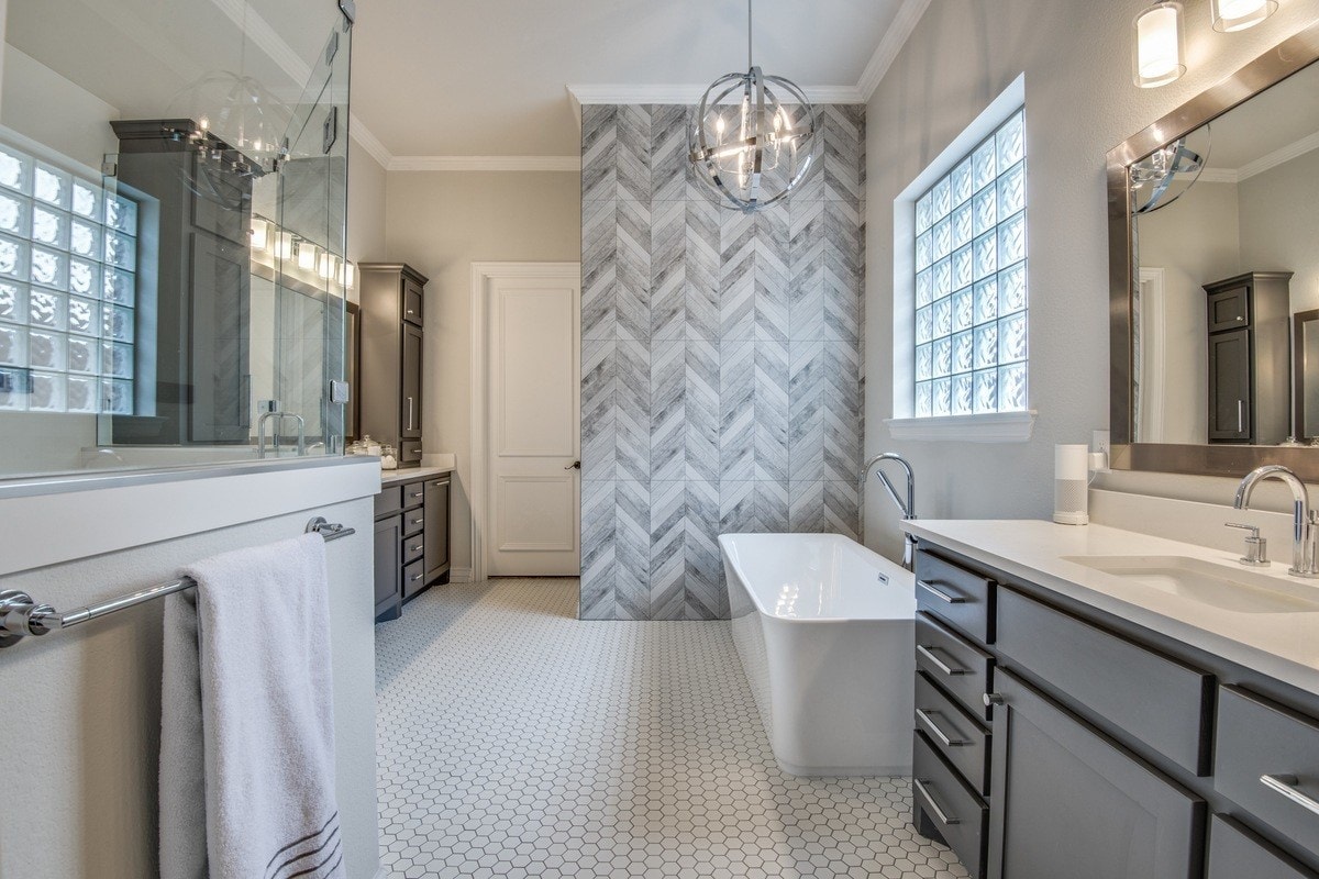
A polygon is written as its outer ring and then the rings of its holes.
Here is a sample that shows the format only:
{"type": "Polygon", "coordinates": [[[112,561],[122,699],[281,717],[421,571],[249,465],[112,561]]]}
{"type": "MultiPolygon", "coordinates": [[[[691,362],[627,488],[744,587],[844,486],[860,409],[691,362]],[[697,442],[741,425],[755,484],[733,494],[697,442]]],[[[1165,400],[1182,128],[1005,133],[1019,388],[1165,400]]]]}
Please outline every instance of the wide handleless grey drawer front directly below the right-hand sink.
{"type": "Polygon", "coordinates": [[[998,650],[1012,660],[1004,667],[1030,669],[1100,721],[1208,775],[1212,675],[1004,588],[998,650]]]}

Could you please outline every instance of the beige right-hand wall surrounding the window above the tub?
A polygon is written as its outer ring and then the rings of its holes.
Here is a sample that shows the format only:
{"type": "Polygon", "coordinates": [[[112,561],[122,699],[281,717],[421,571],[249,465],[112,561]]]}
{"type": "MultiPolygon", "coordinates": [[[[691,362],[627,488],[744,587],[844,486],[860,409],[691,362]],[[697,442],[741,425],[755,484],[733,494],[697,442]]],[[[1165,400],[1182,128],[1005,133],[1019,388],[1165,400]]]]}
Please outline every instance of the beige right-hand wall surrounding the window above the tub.
{"type": "MultiPolygon", "coordinates": [[[[1319,18],[1319,3],[1279,7],[1231,37],[1208,26],[1208,0],[1188,0],[1187,61],[1177,83],[1130,78],[1130,22],[1144,0],[993,4],[934,0],[868,107],[867,452],[910,456],[922,517],[1046,517],[1054,443],[1087,443],[1108,426],[1108,232],[1105,153],[1319,18]],[[1026,76],[1030,253],[1029,443],[896,443],[893,412],[893,199],[1018,74],[1026,76]]],[[[1225,502],[1221,478],[1117,473],[1096,485],[1225,502]]],[[[894,515],[871,492],[869,543],[898,547],[894,515]]]]}

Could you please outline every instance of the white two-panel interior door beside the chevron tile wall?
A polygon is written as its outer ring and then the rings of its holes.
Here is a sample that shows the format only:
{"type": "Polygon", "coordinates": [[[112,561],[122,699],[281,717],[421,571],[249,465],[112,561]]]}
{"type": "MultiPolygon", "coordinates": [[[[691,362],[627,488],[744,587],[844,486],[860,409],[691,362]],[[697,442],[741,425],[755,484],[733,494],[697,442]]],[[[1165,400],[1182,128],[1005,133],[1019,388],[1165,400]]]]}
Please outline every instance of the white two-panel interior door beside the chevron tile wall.
{"type": "Polygon", "coordinates": [[[580,275],[500,277],[487,287],[487,572],[578,576],[580,275]]]}

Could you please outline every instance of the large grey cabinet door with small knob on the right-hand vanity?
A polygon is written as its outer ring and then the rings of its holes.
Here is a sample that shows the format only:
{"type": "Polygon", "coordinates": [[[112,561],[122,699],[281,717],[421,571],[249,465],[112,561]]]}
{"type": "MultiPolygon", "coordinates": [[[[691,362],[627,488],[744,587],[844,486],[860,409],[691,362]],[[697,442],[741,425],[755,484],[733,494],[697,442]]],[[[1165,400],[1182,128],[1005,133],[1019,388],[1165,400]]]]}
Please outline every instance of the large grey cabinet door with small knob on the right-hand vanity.
{"type": "Polygon", "coordinates": [[[1008,672],[995,712],[989,879],[1192,879],[1204,801],[1008,672]]]}

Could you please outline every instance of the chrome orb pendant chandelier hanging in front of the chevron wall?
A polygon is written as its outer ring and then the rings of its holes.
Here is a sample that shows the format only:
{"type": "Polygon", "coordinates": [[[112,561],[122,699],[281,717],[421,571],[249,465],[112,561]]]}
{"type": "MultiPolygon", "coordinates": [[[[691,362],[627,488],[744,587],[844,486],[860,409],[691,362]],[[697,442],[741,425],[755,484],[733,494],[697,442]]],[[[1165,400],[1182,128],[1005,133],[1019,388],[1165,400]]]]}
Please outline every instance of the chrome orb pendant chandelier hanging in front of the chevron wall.
{"type": "Polygon", "coordinates": [[[815,162],[815,109],[794,83],[766,76],[752,59],[747,0],[745,74],[716,79],[689,132],[696,179],[720,206],[751,213],[781,202],[815,162]]]}

